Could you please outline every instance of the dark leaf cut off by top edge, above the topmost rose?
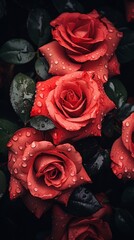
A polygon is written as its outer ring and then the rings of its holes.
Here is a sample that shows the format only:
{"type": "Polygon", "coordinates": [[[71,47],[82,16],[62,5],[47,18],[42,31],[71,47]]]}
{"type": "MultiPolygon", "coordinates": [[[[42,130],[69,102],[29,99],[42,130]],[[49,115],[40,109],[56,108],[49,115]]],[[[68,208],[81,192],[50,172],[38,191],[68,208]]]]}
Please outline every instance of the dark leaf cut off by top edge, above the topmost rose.
{"type": "Polygon", "coordinates": [[[62,12],[83,12],[83,6],[77,0],[52,0],[59,13],[62,12]]]}

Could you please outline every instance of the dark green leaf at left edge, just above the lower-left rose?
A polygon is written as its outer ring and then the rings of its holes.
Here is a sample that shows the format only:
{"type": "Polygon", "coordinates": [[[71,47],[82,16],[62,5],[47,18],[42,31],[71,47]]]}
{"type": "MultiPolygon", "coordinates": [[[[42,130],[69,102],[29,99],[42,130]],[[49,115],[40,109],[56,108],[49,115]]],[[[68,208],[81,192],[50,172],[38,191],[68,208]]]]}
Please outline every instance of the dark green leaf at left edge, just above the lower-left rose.
{"type": "Polygon", "coordinates": [[[19,126],[9,120],[0,119],[0,153],[4,153],[6,144],[19,126]]]}

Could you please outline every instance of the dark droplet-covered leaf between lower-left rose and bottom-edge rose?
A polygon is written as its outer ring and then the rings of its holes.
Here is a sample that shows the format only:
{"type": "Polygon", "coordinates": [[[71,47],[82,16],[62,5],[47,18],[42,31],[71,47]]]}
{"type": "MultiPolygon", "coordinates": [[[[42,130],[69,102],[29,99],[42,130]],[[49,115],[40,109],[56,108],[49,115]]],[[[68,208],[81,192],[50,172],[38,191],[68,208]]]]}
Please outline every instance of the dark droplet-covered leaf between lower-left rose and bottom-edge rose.
{"type": "Polygon", "coordinates": [[[89,216],[98,211],[102,206],[89,190],[89,185],[77,187],[71,194],[67,211],[76,216],[89,216]]]}

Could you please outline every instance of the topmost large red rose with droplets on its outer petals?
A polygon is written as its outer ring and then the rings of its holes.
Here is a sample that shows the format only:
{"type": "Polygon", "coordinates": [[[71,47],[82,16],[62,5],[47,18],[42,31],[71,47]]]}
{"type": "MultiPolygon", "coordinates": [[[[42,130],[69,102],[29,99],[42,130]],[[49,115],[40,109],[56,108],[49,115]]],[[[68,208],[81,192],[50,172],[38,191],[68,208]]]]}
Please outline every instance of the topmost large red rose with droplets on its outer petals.
{"type": "Polygon", "coordinates": [[[54,40],[39,51],[47,59],[52,75],[94,70],[106,82],[108,76],[120,73],[115,50],[122,33],[96,10],[89,14],[65,12],[50,25],[54,40]]]}

